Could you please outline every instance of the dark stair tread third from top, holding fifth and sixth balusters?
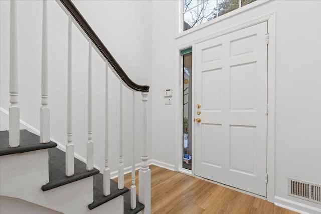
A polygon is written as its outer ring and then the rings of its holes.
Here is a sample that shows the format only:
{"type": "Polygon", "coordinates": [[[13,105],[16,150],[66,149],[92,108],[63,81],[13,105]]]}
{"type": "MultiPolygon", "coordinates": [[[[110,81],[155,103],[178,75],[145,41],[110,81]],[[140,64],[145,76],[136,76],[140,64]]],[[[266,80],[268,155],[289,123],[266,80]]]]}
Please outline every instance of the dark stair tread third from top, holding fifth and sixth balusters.
{"type": "Polygon", "coordinates": [[[94,209],[124,193],[128,192],[128,188],[118,189],[118,183],[110,180],[110,195],[104,196],[103,194],[103,175],[96,174],[94,176],[94,201],[89,204],[89,209],[94,209]]]}

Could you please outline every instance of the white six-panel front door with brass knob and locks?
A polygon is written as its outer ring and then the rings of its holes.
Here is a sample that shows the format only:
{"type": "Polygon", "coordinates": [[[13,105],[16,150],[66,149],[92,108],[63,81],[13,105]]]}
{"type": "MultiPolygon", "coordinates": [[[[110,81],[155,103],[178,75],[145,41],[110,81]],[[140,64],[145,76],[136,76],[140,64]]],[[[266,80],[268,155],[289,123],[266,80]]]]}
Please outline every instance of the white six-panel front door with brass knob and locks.
{"type": "Polygon", "coordinates": [[[267,22],[195,46],[195,175],[266,196],[267,22]]]}

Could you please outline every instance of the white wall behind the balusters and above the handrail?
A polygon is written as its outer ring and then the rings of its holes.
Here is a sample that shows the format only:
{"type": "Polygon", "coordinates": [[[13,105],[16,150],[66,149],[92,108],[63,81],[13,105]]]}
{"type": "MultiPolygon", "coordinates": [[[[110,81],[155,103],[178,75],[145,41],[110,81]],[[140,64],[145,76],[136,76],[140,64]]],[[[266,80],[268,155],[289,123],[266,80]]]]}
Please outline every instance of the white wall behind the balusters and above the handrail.
{"type": "MultiPolygon", "coordinates": [[[[75,1],[74,3],[128,76],[138,84],[151,85],[152,3],[144,1],[75,1]]],[[[10,4],[9,1],[0,1],[0,4],[0,106],[8,110],[10,4]]],[[[20,115],[24,122],[39,130],[42,1],[18,1],[17,14],[20,115]]],[[[63,145],[67,142],[67,34],[67,15],[56,1],[48,1],[51,137],[63,145]]],[[[75,152],[86,157],[88,42],[75,26],[72,28],[72,37],[73,143],[75,152]]],[[[103,169],[105,63],[95,51],[92,55],[94,163],[103,169]]],[[[109,75],[109,89],[110,167],[115,171],[119,156],[119,81],[113,73],[109,75]]],[[[127,167],[132,161],[132,92],[124,88],[123,94],[124,163],[127,167]]],[[[148,107],[148,113],[151,115],[151,96],[148,107]]],[[[136,163],[140,162],[141,118],[141,95],[137,93],[136,163]]],[[[5,119],[2,114],[2,123],[5,119]]],[[[151,116],[148,124],[151,126],[151,116]]],[[[151,130],[149,139],[151,140],[151,130]]],[[[152,151],[151,146],[150,151],[152,151]]]]}

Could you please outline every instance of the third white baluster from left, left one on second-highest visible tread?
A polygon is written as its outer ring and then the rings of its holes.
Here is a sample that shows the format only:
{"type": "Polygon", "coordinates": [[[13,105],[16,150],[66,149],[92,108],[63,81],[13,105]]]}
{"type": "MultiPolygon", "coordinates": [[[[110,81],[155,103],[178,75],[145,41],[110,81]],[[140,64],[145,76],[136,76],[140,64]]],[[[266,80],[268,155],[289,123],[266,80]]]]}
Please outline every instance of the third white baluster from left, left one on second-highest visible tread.
{"type": "Polygon", "coordinates": [[[66,176],[74,175],[74,144],[72,143],[72,67],[71,67],[71,15],[68,18],[68,86],[67,86],[67,145],[66,176]]]}

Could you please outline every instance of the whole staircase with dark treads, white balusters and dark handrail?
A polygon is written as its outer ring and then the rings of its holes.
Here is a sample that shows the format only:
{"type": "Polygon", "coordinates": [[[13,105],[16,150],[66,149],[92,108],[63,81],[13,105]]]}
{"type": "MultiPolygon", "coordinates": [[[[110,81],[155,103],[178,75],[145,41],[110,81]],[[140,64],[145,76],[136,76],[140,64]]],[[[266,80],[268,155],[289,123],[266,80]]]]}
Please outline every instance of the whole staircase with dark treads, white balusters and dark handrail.
{"type": "MultiPolygon", "coordinates": [[[[149,86],[134,83],[116,62],[84,17],[70,0],[57,0],[58,5],[68,16],[68,73],[67,79],[67,118],[61,118],[67,124],[67,143],[53,142],[50,135],[50,105],[48,95],[48,26],[47,1],[42,7],[42,58],[41,58],[41,103],[39,132],[20,130],[20,107],[18,102],[17,68],[17,10],[16,0],[10,1],[10,69],[8,111],[2,109],[2,115],[8,120],[8,130],[0,131],[0,212],[1,213],[150,213],[150,169],[148,167],[147,137],[147,97],[149,86]],[[72,88],[72,25],[75,25],[88,41],[88,93],[87,93],[87,143],[86,157],[75,158],[73,142],[73,88],[72,88]],[[93,139],[93,80],[92,49],[106,63],[105,76],[105,133],[104,142],[99,142],[99,150],[104,151],[104,168],[95,167],[93,139]],[[109,146],[109,73],[119,79],[119,160],[118,182],[110,179],[110,154],[114,152],[109,146]],[[125,86],[125,87],[123,87],[125,86]],[[130,189],[124,187],[124,151],[123,141],[123,88],[132,91],[132,165],[130,189]],[[139,170],[139,196],[136,195],[135,170],[135,114],[136,93],[142,95],[142,129],[141,164],[139,170]],[[4,114],[3,114],[4,113],[4,114]],[[32,132],[33,133],[32,133],[32,132]],[[36,133],[36,134],[35,134],[36,133]],[[39,133],[39,135],[37,135],[39,133]],[[57,145],[60,145],[57,147],[57,145]]],[[[6,120],[1,118],[2,123],[6,120]]],[[[28,121],[27,121],[28,123],[28,121]]],[[[128,168],[128,167],[127,167],[128,168]]]]}

